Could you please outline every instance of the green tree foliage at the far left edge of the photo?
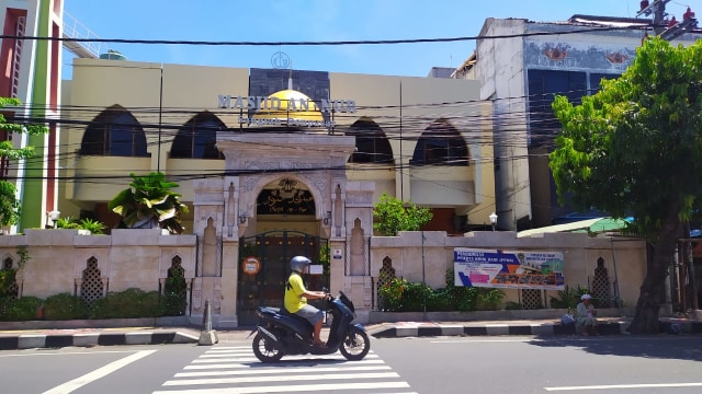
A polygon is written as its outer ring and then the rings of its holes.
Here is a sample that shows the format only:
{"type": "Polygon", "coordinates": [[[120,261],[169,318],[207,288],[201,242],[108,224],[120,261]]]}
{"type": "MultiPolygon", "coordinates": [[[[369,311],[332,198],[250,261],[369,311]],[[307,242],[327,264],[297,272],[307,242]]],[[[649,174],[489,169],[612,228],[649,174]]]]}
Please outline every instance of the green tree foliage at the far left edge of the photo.
{"type": "MultiPolygon", "coordinates": [[[[19,107],[22,103],[18,99],[0,97],[0,109],[13,106],[19,107]]],[[[0,130],[8,134],[42,135],[47,134],[48,128],[44,125],[20,125],[8,121],[0,113],[0,130]]],[[[34,147],[14,148],[12,141],[0,141],[0,158],[10,161],[32,158],[34,147]]],[[[22,202],[18,197],[18,190],[13,183],[0,179],[0,225],[16,224],[22,216],[22,202]]]]}

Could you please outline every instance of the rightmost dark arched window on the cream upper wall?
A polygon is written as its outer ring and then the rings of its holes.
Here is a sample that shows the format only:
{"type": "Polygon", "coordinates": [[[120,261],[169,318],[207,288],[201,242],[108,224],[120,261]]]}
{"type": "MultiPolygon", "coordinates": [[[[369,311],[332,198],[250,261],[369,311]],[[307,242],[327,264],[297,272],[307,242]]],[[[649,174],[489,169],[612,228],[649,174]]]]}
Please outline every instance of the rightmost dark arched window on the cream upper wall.
{"type": "Polygon", "coordinates": [[[421,134],[409,162],[412,165],[469,165],[468,147],[458,131],[439,120],[421,134]]]}

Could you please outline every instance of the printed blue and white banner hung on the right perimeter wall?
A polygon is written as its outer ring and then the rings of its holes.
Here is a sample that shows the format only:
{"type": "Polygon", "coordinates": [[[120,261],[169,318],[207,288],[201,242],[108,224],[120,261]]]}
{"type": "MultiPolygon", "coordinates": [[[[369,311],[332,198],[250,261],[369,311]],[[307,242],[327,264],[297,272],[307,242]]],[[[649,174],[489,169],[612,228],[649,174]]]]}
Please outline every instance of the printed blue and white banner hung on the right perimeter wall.
{"type": "Polygon", "coordinates": [[[563,252],[455,247],[455,286],[563,290],[563,252]]]}

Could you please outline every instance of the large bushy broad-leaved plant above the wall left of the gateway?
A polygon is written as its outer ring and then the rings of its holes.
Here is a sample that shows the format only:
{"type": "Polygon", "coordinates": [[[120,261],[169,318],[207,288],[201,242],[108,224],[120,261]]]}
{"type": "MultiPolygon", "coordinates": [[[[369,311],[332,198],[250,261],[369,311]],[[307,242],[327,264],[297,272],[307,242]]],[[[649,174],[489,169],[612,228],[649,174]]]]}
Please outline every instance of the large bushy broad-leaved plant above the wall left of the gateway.
{"type": "Polygon", "coordinates": [[[120,229],[168,230],[172,234],[183,232],[181,213],[188,213],[188,206],[180,201],[182,195],[172,192],[178,183],[166,181],[166,176],[152,172],[147,176],[131,174],[129,188],[120,192],[107,208],[120,215],[120,229]]]}

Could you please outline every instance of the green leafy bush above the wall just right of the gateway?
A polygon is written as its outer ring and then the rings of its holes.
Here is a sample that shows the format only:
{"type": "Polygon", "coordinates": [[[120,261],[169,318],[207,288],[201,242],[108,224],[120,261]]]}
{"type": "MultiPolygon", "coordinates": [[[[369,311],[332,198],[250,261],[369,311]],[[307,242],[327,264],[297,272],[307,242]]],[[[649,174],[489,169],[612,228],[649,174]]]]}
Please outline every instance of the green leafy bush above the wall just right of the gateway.
{"type": "Polygon", "coordinates": [[[400,231],[418,231],[429,223],[433,213],[431,209],[422,208],[383,193],[378,202],[373,207],[373,228],[383,235],[397,235],[400,231]]]}

